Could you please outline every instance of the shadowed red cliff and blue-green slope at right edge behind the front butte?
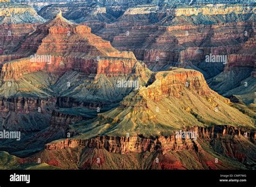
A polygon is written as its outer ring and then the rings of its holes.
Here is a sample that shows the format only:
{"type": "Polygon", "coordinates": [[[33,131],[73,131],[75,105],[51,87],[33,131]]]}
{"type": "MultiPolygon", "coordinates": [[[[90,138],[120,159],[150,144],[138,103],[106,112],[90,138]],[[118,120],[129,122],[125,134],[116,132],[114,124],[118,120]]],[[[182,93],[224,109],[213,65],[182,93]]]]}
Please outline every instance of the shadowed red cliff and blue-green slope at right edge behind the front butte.
{"type": "Polygon", "coordinates": [[[209,81],[210,87],[225,97],[235,95],[241,102],[255,103],[255,47],[253,33],[239,51],[228,55],[224,71],[209,81]]]}

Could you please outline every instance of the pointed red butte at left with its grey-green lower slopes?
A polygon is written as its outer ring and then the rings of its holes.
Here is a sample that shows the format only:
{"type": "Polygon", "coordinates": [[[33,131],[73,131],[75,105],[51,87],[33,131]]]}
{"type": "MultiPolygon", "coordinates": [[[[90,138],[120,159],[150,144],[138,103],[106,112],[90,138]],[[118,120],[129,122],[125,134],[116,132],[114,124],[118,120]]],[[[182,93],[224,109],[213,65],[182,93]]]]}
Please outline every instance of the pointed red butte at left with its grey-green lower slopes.
{"type": "Polygon", "coordinates": [[[132,52],[114,49],[89,27],[73,24],[61,13],[2,59],[3,97],[55,97],[58,107],[101,110],[145,85],[151,75],[132,52]],[[28,57],[12,60],[23,56],[28,57]]]}

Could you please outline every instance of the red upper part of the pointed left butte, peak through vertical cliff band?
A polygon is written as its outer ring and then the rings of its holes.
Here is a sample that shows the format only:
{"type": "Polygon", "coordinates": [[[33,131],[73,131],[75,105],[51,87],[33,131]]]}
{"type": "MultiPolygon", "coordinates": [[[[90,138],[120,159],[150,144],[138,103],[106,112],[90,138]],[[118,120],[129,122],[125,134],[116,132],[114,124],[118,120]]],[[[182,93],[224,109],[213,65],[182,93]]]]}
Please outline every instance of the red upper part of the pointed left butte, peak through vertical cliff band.
{"type": "Polygon", "coordinates": [[[109,41],[92,34],[90,27],[73,24],[61,15],[39,25],[17,54],[30,57],[5,63],[1,73],[4,81],[17,80],[39,70],[61,75],[72,69],[87,74],[117,76],[132,73],[137,62],[133,53],[119,52],[109,41]],[[45,58],[35,61],[33,56],[45,58]]]}

